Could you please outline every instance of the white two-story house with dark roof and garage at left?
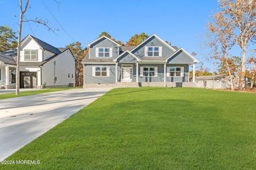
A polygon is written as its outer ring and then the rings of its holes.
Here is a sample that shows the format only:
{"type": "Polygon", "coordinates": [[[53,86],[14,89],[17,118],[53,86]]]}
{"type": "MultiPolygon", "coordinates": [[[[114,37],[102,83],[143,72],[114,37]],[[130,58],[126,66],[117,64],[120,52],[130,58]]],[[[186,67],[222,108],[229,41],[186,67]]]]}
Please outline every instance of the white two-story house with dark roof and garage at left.
{"type": "MultiPolygon", "coordinates": [[[[75,61],[68,48],[56,48],[28,35],[20,48],[20,88],[74,86],[75,61]]],[[[16,88],[17,49],[0,53],[0,87],[16,88]]]]}

